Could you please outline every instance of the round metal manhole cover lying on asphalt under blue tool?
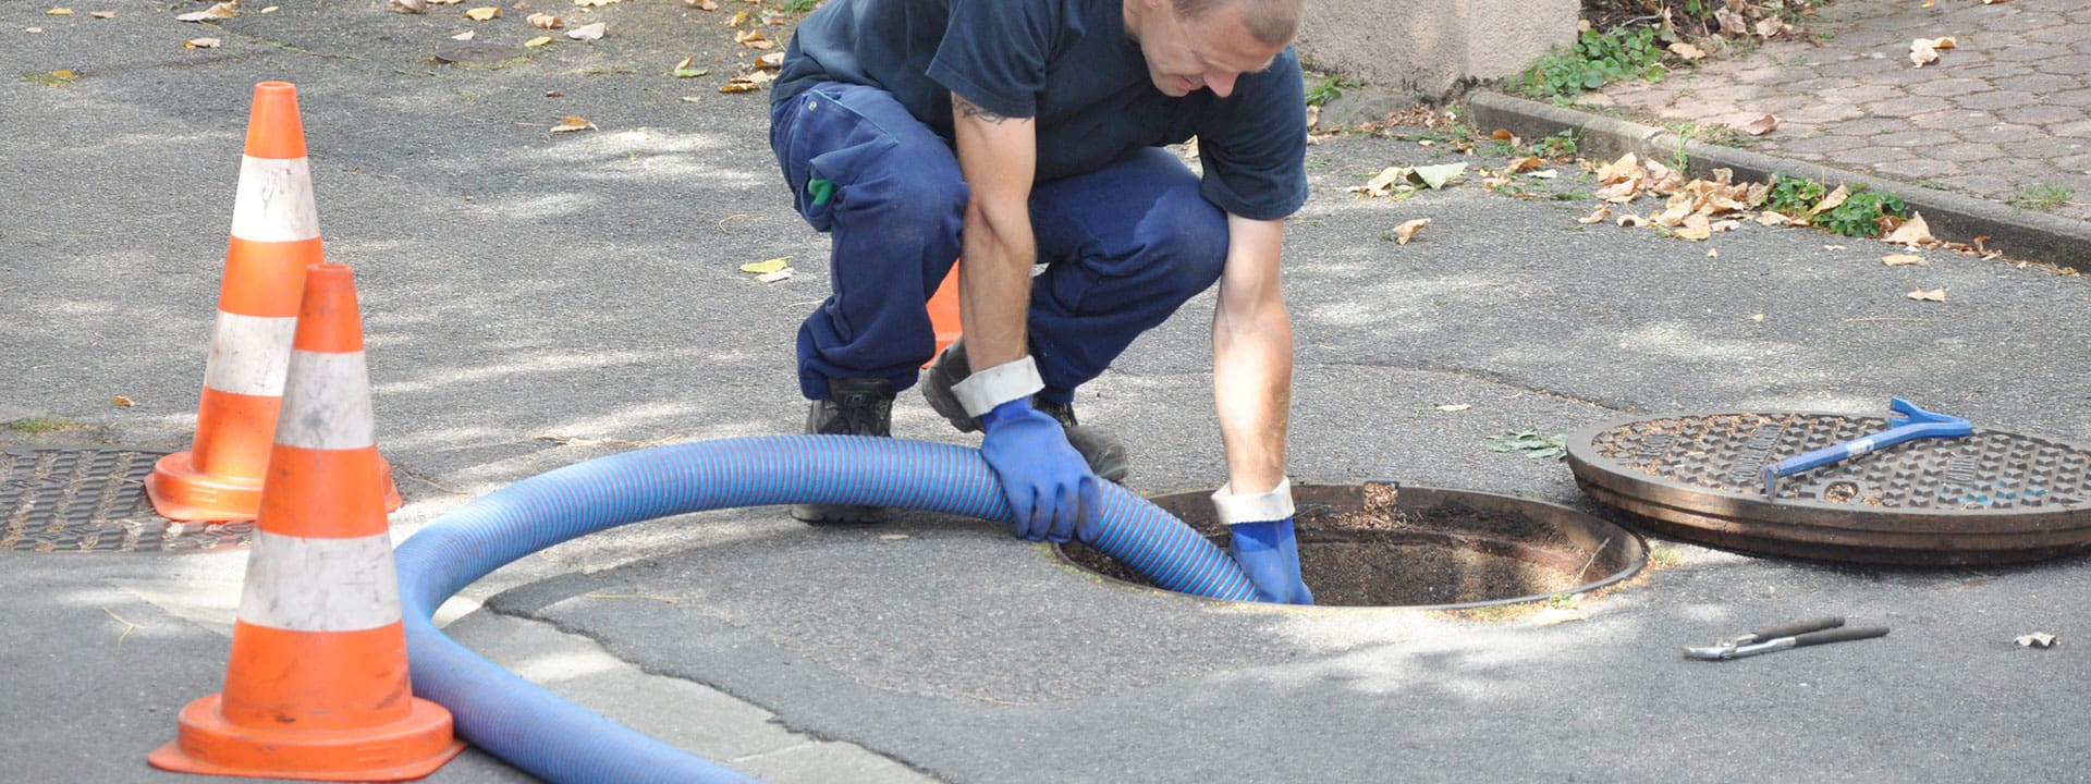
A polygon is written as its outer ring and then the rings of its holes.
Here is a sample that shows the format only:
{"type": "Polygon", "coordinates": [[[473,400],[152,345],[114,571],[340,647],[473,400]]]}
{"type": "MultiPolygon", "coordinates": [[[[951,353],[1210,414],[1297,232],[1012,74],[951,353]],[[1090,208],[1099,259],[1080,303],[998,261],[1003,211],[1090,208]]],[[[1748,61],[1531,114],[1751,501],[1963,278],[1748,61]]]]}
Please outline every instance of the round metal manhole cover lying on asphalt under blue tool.
{"type": "Polygon", "coordinates": [[[1779,556],[1997,564],[2091,548],[2091,452],[1976,429],[1905,441],[1779,481],[1763,468],[1886,431],[1840,414],[1690,414],[1568,435],[1591,498],[1656,533],[1779,556]]]}

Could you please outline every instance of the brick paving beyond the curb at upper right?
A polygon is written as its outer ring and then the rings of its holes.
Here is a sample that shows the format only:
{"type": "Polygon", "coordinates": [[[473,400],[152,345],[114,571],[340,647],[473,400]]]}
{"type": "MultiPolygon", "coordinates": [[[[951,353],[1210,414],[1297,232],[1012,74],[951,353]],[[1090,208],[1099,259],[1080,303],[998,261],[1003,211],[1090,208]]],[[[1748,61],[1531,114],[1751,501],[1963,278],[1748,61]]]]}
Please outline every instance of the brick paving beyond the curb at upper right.
{"type": "Polygon", "coordinates": [[[2001,203],[2066,186],[2047,211],[2091,220],[2091,2],[1838,0],[1807,29],[1819,46],[1765,42],[1581,107],[1669,128],[1769,113],[1777,130],[1736,144],[2001,203]],[[1911,65],[1911,40],[1945,36],[1957,48],[1911,65]]]}

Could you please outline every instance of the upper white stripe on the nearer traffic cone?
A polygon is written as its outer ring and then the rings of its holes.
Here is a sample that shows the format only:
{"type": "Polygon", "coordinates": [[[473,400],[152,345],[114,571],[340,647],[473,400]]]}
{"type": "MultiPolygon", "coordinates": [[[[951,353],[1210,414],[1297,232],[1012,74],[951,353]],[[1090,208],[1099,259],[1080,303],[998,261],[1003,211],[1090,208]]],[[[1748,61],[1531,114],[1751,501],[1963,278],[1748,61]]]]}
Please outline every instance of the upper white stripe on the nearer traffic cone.
{"type": "Polygon", "coordinates": [[[276,443],[305,449],[362,449],[378,443],[362,351],[291,351],[276,443]]]}

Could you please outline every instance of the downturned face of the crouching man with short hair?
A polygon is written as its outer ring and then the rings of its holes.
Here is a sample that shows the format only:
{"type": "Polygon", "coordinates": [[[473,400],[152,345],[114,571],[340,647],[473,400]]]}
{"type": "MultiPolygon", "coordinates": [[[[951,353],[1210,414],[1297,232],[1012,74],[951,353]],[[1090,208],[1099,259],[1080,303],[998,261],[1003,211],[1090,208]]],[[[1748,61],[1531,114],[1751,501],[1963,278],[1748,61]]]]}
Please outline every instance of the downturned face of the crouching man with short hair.
{"type": "Polygon", "coordinates": [[[1198,19],[1184,19],[1169,0],[1161,0],[1140,29],[1140,52],[1148,59],[1148,75],[1154,88],[1171,98],[1198,88],[1225,98],[1234,92],[1236,77],[1263,71],[1284,48],[1250,36],[1238,2],[1211,8],[1198,19]]]}

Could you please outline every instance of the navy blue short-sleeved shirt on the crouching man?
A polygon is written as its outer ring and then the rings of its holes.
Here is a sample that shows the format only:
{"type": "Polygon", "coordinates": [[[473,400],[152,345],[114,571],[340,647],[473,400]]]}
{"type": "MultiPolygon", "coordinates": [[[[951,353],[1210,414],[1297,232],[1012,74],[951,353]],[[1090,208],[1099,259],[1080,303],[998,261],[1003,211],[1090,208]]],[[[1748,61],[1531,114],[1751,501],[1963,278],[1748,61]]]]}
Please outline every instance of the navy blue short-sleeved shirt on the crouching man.
{"type": "Polygon", "coordinates": [[[1278,220],[1307,201],[1307,102],[1288,46],[1242,73],[1227,98],[1171,98],[1125,31],[1125,0],[828,0],[790,40],[772,102],[822,84],[891,92],[951,140],[951,92],[1004,117],[1033,117],[1037,180],[1110,165],[1198,136],[1200,194],[1278,220]]]}

